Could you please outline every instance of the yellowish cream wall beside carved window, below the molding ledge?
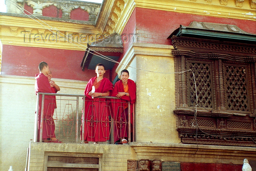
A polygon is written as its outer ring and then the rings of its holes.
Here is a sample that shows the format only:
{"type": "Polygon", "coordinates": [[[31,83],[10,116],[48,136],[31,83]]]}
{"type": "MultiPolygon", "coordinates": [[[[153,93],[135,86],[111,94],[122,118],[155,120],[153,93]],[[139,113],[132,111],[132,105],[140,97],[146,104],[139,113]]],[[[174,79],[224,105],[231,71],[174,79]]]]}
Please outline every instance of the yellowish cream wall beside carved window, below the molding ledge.
{"type": "Polygon", "coordinates": [[[172,57],[136,56],[136,140],[179,143],[176,130],[174,61],[172,57]],[[163,74],[172,73],[172,74],[163,74]]]}

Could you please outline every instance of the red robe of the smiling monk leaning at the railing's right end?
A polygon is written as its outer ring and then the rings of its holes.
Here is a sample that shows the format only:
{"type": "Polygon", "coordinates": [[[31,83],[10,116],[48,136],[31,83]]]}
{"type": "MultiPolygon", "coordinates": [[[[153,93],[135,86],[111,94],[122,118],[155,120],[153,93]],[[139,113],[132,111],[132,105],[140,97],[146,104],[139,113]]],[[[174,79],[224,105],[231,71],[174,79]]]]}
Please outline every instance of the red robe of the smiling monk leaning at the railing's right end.
{"type": "MultiPolygon", "coordinates": [[[[129,88],[129,95],[130,96],[122,96],[121,99],[114,99],[115,103],[112,103],[113,107],[113,120],[114,120],[114,141],[120,140],[120,138],[127,138],[128,137],[128,109],[126,108],[127,102],[130,102],[130,109],[131,109],[131,125],[132,118],[133,118],[133,104],[136,100],[136,84],[133,80],[128,79],[127,85],[129,88]],[[125,109],[126,108],[126,109],[125,109]]],[[[125,92],[124,85],[122,80],[116,82],[114,86],[114,90],[112,96],[116,96],[118,92],[125,92]]]]}

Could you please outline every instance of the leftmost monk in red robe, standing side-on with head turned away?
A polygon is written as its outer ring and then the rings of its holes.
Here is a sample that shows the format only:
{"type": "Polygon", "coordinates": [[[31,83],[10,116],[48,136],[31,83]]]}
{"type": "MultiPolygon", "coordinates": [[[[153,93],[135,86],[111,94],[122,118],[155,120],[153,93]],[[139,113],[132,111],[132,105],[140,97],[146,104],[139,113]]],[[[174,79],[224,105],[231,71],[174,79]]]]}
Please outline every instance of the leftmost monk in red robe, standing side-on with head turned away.
{"type": "MultiPolygon", "coordinates": [[[[49,65],[46,62],[40,62],[38,65],[39,73],[35,75],[35,94],[38,92],[52,93],[48,77],[49,65]]],[[[60,142],[57,140],[54,134],[55,125],[52,118],[55,105],[53,103],[53,97],[50,95],[45,95],[44,99],[44,114],[43,114],[43,130],[40,130],[41,124],[41,108],[42,108],[42,95],[39,96],[38,102],[38,134],[37,140],[39,141],[40,131],[42,131],[42,139],[44,142],[60,142]]]]}

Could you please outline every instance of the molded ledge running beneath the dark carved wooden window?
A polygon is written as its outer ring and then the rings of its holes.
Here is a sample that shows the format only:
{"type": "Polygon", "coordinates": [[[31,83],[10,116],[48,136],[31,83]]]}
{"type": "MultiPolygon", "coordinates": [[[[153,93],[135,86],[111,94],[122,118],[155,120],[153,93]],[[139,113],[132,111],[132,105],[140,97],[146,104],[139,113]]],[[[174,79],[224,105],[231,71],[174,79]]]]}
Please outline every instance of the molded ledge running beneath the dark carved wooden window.
{"type": "MultiPolygon", "coordinates": [[[[178,162],[202,162],[202,155],[208,163],[241,164],[244,156],[254,160],[256,149],[253,147],[229,147],[221,145],[196,145],[196,144],[160,144],[131,142],[131,147],[138,155],[138,160],[158,158],[165,160],[172,157],[178,162]],[[164,155],[162,155],[164,153],[164,155]],[[180,157],[187,154],[189,157],[180,157]],[[221,158],[220,158],[221,156],[221,158]],[[225,158],[226,160],[223,160],[225,158]]],[[[168,160],[166,160],[168,161],[168,160]]]]}

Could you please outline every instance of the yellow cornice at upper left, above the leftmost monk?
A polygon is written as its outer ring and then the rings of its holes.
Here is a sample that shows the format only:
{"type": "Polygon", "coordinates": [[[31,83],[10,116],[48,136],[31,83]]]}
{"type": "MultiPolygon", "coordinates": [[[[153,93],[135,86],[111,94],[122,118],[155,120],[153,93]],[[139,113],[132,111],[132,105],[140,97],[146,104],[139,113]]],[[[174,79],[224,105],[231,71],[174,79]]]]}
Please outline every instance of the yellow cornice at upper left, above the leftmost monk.
{"type": "Polygon", "coordinates": [[[53,31],[51,32],[47,29],[48,26],[45,28],[30,18],[22,18],[21,20],[19,16],[2,15],[0,20],[1,41],[4,45],[84,50],[87,47],[88,41],[90,41],[89,35],[91,36],[99,34],[99,30],[93,25],[71,25],[67,22],[56,22],[52,20],[47,20],[45,22],[53,28],[57,28],[60,33],[55,30],[51,30],[53,31]],[[86,32],[84,32],[85,28],[86,32]],[[68,30],[68,32],[66,30],[68,30]],[[63,34],[67,35],[67,37],[65,37],[63,34]],[[84,46],[79,45],[80,47],[78,47],[72,44],[75,43],[74,41],[76,40],[76,37],[78,37],[79,43],[84,46]]]}

